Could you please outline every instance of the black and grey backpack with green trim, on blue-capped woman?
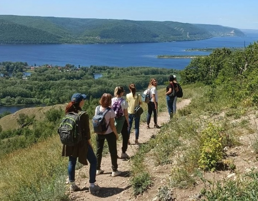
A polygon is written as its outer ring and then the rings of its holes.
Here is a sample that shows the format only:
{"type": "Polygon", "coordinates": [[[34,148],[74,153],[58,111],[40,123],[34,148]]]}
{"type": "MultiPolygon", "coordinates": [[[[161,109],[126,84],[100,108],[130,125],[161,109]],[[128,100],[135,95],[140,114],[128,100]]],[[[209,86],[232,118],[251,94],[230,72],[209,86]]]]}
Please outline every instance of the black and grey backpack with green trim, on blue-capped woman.
{"type": "Polygon", "coordinates": [[[82,140],[80,116],[85,111],[69,112],[62,119],[57,133],[63,145],[74,146],[82,140]]]}

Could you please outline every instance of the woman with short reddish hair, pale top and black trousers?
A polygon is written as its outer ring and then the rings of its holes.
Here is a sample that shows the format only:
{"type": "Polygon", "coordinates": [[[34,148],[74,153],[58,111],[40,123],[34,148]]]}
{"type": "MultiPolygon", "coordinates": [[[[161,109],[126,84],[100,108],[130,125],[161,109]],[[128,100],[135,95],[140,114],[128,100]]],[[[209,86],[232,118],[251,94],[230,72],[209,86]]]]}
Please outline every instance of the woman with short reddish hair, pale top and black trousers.
{"type": "MultiPolygon", "coordinates": [[[[100,112],[104,112],[111,105],[111,94],[103,94],[100,98],[100,112]]],[[[98,107],[98,106],[97,106],[98,107]]],[[[97,107],[95,109],[95,114],[97,114],[97,107]]],[[[104,134],[96,134],[96,142],[97,142],[97,172],[96,175],[100,175],[104,172],[104,170],[100,169],[102,152],[104,147],[105,139],[107,140],[108,149],[111,157],[112,164],[112,177],[121,175],[121,171],[117,170],[117,130],[115,127],[115,118],[116,114],[114,110],[110,109],[104,116],[106,119],[107,131],[104,134]]]]}

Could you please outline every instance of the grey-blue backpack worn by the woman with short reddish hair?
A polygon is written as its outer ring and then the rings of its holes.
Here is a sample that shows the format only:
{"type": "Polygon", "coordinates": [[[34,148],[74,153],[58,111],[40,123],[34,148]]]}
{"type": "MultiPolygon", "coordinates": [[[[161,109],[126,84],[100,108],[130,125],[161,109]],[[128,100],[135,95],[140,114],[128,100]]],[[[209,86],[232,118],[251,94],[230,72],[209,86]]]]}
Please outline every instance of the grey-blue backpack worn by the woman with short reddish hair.
{"type": "Polygon", "coordinates": [[[105,119],[105,114],[111,110],[110,107],[107,107],[104,112],[100,111],[100,105],[97,106],[97,114],[95,114],[92,118],[92,124],[93,124],[93,129],[95,133],[98,134],[103,134],[107,131],[108,125],[105,119]]]}

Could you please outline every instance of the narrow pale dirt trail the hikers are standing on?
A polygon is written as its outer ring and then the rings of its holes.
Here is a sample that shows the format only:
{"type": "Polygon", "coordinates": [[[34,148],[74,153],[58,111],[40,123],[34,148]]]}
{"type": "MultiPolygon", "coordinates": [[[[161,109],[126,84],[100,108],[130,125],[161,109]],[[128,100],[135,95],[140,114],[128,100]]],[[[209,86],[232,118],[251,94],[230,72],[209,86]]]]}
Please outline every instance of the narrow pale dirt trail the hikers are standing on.
{"type": "MultiPolygon", "coordinates": [[[[188,105],[191,101],[184,99],[177,103],[177,109],[180,109],[188,105]]],[[[167,112],[158,114],[158,125],[169,121],[167,112]]],[[[153,128],[153,117],[151,117],[150,129],[146,129],[146,124],[140,124],[139,143],[148,141],[152,135],[157,134],[159,129],[153,128]]],[[[129,156],[134,155],[137,152],[138,145],[134,145],[134,133],[130,136],[131,145],[128,145],[127,154],[129,156]]],[[[118,156],[121,156],[121,142],[117,145],[118,156]]],[[[101,169],[105,172],[102,175],[97,175],[96,180],[101,190],[96,195],[91,195],[88,190],[89,186],[89,165],[83,166],[81,169],[76,170],[75,177],[76,183],[80,187],[80,191],[70,194],[71,200],[94,200],[94,201],[114,201],[114,200],[141,200],[140,197],[132,196],[132,188],[129,183],[130,179],[130,167],[129,161],[125,159],[117,159],[118,170],[122,171],[121,176],[111,177],[111,159],[107,154],[102,158],[101,169]]],[[[155,195],[153,195],[154,197],[155,195]]],[[[152,197],[152,198],[153,198],[152,197]]]]}

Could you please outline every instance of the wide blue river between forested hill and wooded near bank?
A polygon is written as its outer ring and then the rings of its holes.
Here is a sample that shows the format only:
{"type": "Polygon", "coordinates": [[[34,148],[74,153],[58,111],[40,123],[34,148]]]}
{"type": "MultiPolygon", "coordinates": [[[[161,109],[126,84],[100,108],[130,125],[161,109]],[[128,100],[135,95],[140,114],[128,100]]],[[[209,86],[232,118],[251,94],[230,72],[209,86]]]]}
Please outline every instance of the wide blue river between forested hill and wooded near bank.
{"type": "Polygon", "coordinates": [[[185,51],[192,48],[244,47],[258,40],[258,30],[242,30],[243,37],[214,37],[199,41],[133,44],[46,44],[0,45],[1,61],[23,61],[37,66],[154,66],[183,69],[191,59],[158,59],[157,55],[204,55],[209,52],[185,51]]]}

